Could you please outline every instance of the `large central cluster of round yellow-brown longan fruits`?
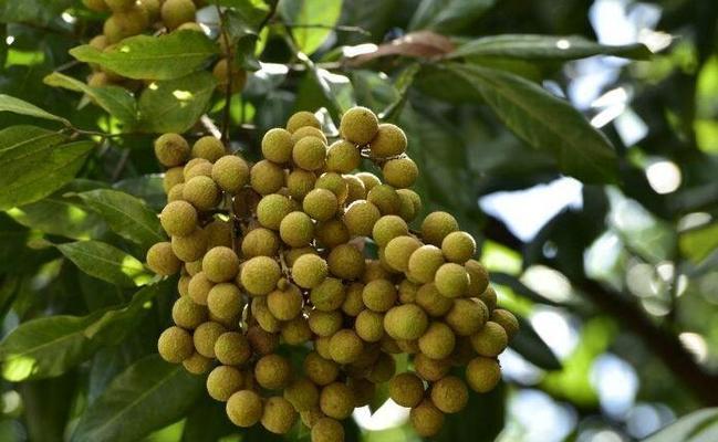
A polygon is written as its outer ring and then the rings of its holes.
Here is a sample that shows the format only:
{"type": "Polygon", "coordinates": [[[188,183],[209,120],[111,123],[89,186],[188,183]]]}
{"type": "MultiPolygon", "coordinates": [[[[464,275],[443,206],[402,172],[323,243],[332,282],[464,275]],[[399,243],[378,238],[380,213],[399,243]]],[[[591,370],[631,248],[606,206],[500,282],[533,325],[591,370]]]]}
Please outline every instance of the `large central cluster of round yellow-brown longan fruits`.
{"type": "Polygon", "coordinates": [[[341,421],[388,383],[430,436],[469,389],[500,381],[497,357],[518,322],[497,307],[457,220],[419,219],[406,146],[399,127],[364,107],[343,115],[332,143],[313,114],[292,115],[264,134],[253,165],[211,137],[191,149],[176,134],[156,140],[171,240],[149,250],[147,265],[180,273],[159,354],[209,372],[208,393],[238,427],[283,434],[301,420],[312,441],[343,441],[341,421]],[[357,171],[364,160],[383,180],[357,171]],[[305,356],[292,360],[288,347],[305,356]],[[396,372],[399,354],[410,371],[396,372]]]}

